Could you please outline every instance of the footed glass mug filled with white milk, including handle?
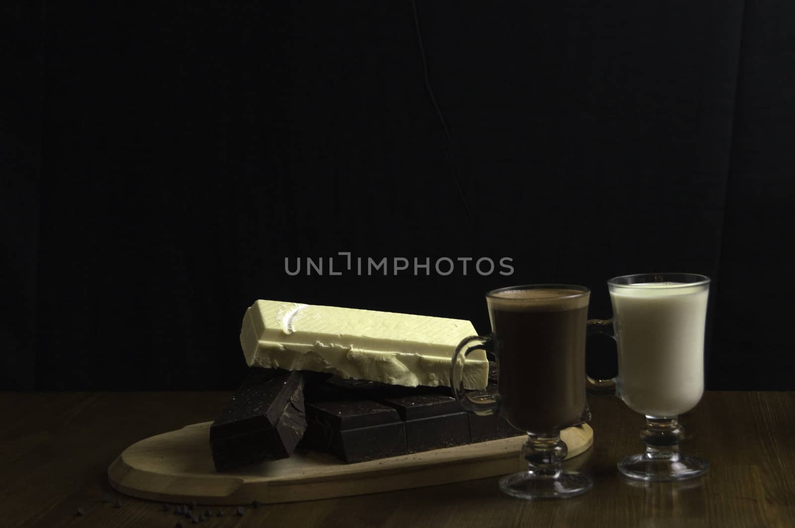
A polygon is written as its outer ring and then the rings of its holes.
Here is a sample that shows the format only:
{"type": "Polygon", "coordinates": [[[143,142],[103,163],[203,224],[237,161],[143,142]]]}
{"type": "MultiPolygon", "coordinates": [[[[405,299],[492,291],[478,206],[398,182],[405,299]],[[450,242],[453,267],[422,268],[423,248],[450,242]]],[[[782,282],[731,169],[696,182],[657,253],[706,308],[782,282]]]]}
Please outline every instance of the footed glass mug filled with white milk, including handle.
{"type": "Polygon", "coordinates": [[[696,274],[636,274],[607,281],[612,320],[589,320],[588,334],[615,339],[619,375],[587,377],[589,391],[612,393],[646,416],[646,452],[619,462],[642,480],[683,480],[707,472],[706,461],[679,452],[677,417],[704,394],[704,329],[709,278],[696,274]]]}

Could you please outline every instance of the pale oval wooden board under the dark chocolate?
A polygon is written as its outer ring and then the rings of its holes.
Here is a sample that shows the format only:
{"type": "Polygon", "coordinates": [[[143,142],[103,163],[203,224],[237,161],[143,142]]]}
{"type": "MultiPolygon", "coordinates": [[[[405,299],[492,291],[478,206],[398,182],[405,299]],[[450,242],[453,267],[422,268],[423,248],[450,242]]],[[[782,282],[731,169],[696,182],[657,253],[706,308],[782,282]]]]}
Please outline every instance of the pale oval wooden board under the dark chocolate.
{"type": "MultiPolygon", "coordinates": [[[[211,421],[188,425],[130,445],[107,470],[111,485],[126,495],[169,503],[289,503],[481,479],[527,468],[519,456],[526,437],[513,437],[358,464],[299,449],[284,460],[216,473],[210,425],[211,421]]],[[[560,437],[568,445],[568,459],[591,447],[593,429],[570,427],[560,437]]]]}

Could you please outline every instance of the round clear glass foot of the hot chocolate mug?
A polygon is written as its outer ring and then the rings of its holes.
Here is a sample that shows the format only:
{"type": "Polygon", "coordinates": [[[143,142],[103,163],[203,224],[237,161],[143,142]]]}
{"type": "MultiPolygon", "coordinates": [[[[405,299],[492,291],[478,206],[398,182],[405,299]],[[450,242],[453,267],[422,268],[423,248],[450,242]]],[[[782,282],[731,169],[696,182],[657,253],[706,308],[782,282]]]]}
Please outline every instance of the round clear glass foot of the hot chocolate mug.
{"type": "Polygon", "coordinates": [[[577,472],[556,472],[539,475],[534,472],[518,472],[502,477],[499,488],[517,499],[568,499],[581,495],[593,487],[587,476],[577,472]]]}

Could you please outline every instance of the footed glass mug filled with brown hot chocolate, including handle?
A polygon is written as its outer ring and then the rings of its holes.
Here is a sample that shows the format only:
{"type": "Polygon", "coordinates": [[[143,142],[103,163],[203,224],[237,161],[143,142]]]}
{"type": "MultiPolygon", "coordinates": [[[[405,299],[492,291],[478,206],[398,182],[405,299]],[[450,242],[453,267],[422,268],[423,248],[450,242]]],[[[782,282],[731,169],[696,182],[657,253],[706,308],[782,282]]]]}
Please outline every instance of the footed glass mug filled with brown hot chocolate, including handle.
{"type": "Polygon", "coordinates": [[[499,413],[527,432],[527,471],[502,477],[500,489],[520,499],[564,499],[591,489],[579,472],[564,472],[567,447],[560,429],[585,408],[585,336],[591,291],[578,285],[522,285],[486,294],[489,336],[461,341],[452,357],[451,386],[463,409],[499,413]],[[480,341],[478,344],[471,344],[480,341]],[[463,390],[463,360],[475,350],[493,352],[497,393],[472,398],[463,390]]]}

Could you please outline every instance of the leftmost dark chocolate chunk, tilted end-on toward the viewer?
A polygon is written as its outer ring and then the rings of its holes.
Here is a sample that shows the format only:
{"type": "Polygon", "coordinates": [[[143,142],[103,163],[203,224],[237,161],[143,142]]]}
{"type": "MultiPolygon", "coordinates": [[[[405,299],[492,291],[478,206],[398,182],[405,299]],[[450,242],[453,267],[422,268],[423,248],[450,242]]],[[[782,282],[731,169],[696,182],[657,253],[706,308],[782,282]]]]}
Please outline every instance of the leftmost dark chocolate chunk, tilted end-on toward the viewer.
{"type": "Polygon", "coordinates": [[[210,428],[215,471],[286,458],[304,435],[304,374],[257,369],[210,428]]]}

